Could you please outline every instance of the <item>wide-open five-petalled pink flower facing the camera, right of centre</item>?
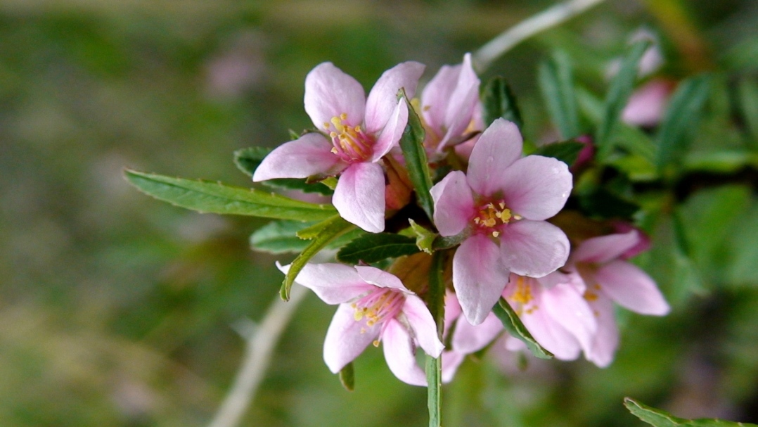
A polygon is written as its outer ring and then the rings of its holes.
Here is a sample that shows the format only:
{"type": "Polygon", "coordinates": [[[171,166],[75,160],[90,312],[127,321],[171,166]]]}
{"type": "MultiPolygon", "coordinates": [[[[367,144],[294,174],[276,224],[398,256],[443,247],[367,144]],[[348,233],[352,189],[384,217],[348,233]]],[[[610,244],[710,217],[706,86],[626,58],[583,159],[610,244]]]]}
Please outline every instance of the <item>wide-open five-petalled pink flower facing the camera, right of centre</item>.
{"type": "Polygon", "coordinates": [[[442,236],[467,236],[453,256],[453,287],[468,322],[483,322],[509,273],[541,277],[561,267],[568,239],[544,221],[572,189],[565,163],[522,155],[518,127],[497,119],[471,151],[468,173],[434,185],[434,224],[442,236]]]}

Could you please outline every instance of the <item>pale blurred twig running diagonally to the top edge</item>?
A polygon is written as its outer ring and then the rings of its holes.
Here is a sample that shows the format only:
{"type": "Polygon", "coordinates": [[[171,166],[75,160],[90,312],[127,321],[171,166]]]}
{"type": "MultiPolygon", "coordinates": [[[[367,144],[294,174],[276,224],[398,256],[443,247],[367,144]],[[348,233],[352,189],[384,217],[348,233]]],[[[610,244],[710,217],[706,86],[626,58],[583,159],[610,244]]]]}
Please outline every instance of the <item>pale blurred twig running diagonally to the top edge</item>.
{"type": "Polygon", "coordinates": [[[539,14],[522,20],[514,27],[500,33],[494,39],[487,42],[477,52],[474,52],[474,68],[478,73],[490,67],[495,59],[512,49],[513,46],[528,39],[540,31],[555,27],[572,17],[581,14],[581,12],[591,8],[594,5],[604,2],[605,0],[571,0],[560,3],[539,14]]]}

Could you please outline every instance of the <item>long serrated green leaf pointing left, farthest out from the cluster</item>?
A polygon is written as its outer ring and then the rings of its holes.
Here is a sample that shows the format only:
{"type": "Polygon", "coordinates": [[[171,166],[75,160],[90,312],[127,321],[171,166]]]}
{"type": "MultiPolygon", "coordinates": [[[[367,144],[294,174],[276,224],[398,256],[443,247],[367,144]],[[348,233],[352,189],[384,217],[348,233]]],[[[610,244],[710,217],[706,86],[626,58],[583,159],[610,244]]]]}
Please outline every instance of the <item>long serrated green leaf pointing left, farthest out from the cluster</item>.
{"type": "Polygon", "coordinates": [[[334,206],[301,202],[272,193],[127,170],[127,181],[143,193],[198,212],[318,221],[337,213],[334,206]]]}

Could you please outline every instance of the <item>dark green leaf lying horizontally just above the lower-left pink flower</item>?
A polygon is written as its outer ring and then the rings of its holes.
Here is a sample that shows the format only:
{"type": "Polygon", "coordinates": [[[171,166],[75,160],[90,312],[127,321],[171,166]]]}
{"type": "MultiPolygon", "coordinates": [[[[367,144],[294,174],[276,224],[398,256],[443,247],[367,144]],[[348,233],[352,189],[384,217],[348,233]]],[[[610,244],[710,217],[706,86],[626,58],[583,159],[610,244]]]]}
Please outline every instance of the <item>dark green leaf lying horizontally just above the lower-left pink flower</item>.
{"type": "Polygon", "coordinates": [[[418,246],[413,237],[391,233],[365,234],[343,247],[337,253],[337,259],[346,264],[371,264],[414,253],[418,253],[418,246]]]}

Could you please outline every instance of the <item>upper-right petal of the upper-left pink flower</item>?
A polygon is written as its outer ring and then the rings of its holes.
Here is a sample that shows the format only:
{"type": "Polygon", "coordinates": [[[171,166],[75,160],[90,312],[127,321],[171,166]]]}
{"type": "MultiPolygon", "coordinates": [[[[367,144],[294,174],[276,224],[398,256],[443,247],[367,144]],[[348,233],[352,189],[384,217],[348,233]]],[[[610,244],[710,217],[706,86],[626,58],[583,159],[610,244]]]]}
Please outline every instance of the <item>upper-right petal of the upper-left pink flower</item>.
{"type": "MultiPolygon", "coordinates": [[[[390,120],[398,104],[397,92],[400,88],[406,89],[408,99],[413,98],[418,78],[423,73],[424,64],[414,61],[402,62],[384,71],[366,100],[365,124],[368,133],[377,133],[390,120]]],[[[405,104],[404,100],[401,102],[405,104]]],[[[405,126],[403,121],[402,127],[405,126]]]]}

